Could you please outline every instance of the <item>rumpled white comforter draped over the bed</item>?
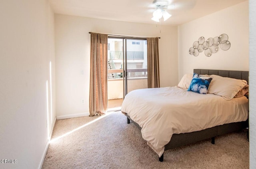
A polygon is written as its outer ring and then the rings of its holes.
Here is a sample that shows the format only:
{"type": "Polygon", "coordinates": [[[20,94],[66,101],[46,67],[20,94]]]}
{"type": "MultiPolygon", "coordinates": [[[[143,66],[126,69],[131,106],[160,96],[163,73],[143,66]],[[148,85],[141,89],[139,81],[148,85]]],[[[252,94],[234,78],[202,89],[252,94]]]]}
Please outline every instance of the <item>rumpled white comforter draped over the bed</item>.
{"type": "Polygon", "coordinates": [[[218,95],[161,87],[131,91],[125,96],[121,111],[142,127],[142,137],[160,157],[172,134],[245,121],[248,100],[224,100],[218,95]]]}

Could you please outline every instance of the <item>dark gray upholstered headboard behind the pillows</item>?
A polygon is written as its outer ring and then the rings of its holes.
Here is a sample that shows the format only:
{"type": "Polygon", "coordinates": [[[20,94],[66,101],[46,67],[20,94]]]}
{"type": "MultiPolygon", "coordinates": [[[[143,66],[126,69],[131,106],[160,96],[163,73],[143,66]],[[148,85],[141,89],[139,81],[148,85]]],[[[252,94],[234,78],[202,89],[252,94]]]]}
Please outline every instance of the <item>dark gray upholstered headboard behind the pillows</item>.
{"type": "Polygon", "coordinates": [[[194,73],[201,75],[219,75],[222,77],[246,80],[249,84],[249,72],[237,70],[210,70],[210,69],[194,69],[194,73]]]}

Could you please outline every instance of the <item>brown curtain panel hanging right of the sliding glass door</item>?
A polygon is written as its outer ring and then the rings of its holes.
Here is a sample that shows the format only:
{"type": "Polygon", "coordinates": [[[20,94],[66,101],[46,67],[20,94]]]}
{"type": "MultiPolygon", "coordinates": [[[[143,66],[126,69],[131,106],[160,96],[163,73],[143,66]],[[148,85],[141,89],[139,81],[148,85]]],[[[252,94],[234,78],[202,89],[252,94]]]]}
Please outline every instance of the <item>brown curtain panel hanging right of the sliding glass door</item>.
{"type": "Polygon", "coordinates": [[[160,87],[158,38],[147,38],[148,88],[160,87]]]}

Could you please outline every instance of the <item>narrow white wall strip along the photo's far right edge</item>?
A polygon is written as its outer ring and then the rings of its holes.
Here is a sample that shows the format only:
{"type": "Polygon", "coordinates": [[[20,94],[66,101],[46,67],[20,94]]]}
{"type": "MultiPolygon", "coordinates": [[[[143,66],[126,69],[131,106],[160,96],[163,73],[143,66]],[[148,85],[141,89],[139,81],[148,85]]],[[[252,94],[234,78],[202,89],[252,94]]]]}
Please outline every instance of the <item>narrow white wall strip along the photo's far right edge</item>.
{"type": "Polygon", "coordinates": [[[250,10],[250,169],[256,168],[256,1],[249,1],[250,10]]]}

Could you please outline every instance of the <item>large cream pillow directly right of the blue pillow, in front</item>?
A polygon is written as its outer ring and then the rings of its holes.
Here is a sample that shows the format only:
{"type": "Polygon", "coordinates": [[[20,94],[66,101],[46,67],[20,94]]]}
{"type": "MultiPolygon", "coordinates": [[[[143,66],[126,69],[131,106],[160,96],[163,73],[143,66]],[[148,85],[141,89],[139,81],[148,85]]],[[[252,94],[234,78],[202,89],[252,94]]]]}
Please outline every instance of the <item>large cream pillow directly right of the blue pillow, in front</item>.
{"type": "Polygon", "coordinates": [[[225,100],[231,100],[247,82],[246,80],[238,80],[234,78],[226,78],[218,75],[210,75],[212,82],[210,83],[208,93],[222,96],[225,100]]]}

